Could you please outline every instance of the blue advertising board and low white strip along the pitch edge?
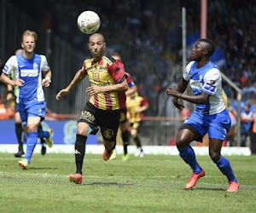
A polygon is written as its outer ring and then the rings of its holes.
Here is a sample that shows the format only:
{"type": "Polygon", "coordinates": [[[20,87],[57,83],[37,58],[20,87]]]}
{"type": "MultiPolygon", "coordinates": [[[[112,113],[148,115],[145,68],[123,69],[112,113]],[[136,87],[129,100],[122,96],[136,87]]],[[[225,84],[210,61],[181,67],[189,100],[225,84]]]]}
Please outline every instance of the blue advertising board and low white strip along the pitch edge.
{"type": "MultiPolygon", "coordinates": [[[[76,136],[77,121],[47,121],[43,122],[43,129],[52,128],[54,130],[53,139],[55,145],[47,149],[47,153],[74,153],[74,142],[76,136]]],[[[15,135],[15,122],[13,120],[0,121],[0,153],[16,153],[18,150],[17,139],[15,135]]],[[[100,141],[101,135],[90,135],[87,140],[86,153],[102,154],[104,147],[100,141]]],[[[38,143],[40,141],[38,140],[38,143]]],[[[41,152],[41,146],[36,147],[35,153],[41,152]]],[[[197,155],[208,155],[208,147],[193,147],[197,155]]],[[[25,145],[26,150],[26,145],[25,145]]],[[[133,154],[137,147],[131,145],[128,147],[128,152],[133,154]]],[[[178,155],[177,147],[175,146],[159,146],[159,145],[146,145],[143,146],[144,153],[153,155],[178,155]]],[[[123,146],[117,146],[117,153],[123,153],[123,146]]],[[[249,147],[223,147],[222,154],[229,155],[242,155],[249,156],[251,151],[249,147]]]]}

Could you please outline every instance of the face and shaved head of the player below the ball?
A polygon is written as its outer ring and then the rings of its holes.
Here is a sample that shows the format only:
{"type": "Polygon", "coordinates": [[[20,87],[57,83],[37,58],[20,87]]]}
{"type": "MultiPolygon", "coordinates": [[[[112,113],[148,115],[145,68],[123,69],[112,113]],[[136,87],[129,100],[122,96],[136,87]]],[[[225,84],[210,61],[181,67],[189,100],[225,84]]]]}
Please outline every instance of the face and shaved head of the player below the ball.
{"type": "Polygon", "coordinates": [[[106,46],[106,43],[104,42],[104,38],[102,37],[102,35],[91,36],[88,46],[89,46],[91,55],[96,60],[99,60],[102,58],[102,55],[104,54],[104,49],[106,46]]]}

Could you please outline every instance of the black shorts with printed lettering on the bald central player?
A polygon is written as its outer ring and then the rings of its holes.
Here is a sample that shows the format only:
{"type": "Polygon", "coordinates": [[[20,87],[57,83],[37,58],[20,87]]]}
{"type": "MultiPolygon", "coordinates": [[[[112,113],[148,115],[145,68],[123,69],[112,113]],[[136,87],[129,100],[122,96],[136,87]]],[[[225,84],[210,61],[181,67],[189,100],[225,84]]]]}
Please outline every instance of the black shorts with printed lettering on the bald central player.
{"type": "Polygon", "coordinates": [[[116,141],[119,130],[119,110],[102,110],[94,107],[89,101],[81,112],[79,122],[89,124],[91,128],[99,126],[105,141],[116,141]]]}

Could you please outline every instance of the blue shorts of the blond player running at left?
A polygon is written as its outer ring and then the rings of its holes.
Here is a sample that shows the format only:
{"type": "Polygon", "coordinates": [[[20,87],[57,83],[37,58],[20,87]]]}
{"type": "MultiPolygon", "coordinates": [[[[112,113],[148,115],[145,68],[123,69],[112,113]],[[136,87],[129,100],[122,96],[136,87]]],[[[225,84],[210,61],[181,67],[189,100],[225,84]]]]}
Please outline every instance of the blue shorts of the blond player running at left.
{"type": "Polygon", "coordinates": [[[45,107],[45,101],[31,101],[26,104],[18,103],[17,109],[20,112],[22,126],[26,126],[28,117],[41,117],[41,120],[44,120],[45,107]]]}

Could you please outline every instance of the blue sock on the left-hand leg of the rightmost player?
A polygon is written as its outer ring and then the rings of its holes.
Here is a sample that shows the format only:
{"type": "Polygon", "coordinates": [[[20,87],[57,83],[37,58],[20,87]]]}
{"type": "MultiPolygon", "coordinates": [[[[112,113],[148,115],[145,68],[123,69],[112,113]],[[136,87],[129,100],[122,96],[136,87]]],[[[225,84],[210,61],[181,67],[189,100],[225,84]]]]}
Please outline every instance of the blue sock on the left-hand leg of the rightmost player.
{"type": "Polygon", "coordinates": [[[195,174],[200,173],[201,167],[199,166],[199,164],[195,159],[195,152],[192,149],[192,147],[188,146],[188,147],[177,148],[177,149],[179,151],[180,157],[183,158],[183,161],[189,164],[193,172],[195,172],[195,174]]]}

